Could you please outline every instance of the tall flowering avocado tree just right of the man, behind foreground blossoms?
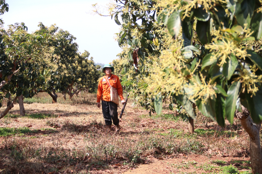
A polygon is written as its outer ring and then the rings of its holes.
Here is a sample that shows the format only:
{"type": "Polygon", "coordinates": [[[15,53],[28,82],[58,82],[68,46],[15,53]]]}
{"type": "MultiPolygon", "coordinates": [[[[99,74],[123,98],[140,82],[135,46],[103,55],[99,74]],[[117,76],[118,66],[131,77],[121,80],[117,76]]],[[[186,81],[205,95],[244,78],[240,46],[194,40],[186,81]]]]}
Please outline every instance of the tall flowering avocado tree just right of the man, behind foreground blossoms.
{"type": "MultiPolygon", "coordinates": [[[[167,49],[172,42],[172,36],[163,25],[157,25],[157,10],[152,10],[155,2],[152,0],[116,1],[109,4],[109,14],[121,31],[116,39],[123,49],[118,54],[120,59],[114,60],[115,74],[120,77],[124,91],[135,98],[135,104],[140,104],[155,113],[154,97],[147,91],[151,76],[159,65],[161,50],[167,49]],[[120,18],[122,22],[120,22],[120,18]]],[[[97,4],[94,12],[99,12],[97,4]]],[[[104,15],[103,15],[104,16],[104,15]]],[[[166,96],[167,97],[167,96],[166,96]]]]}

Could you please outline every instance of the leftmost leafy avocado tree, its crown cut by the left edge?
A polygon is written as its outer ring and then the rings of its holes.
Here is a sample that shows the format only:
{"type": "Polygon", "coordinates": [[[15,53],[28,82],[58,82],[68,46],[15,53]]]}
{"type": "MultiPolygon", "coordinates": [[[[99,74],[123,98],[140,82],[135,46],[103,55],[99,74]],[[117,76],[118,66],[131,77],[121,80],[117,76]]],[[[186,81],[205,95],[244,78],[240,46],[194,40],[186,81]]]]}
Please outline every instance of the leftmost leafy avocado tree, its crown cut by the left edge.
{"type": "MultiPolygon", "coordinates": [[[[46,31],[37,31],[28,34],[24,23],[10,25],[7,30],[0,29],[0,89],[6,98],[15,95],[14,101],[21,95],[26,98],[34,95],[34,89],[40,86],[42,50],[45,48],[50,35],[46,31]]],[[[3,95],[0,96],[1,100],[3,95]]],[[[9,101],[6,110],[1,113],[3,118],[13,107],[13,101],[9,101]]]]}

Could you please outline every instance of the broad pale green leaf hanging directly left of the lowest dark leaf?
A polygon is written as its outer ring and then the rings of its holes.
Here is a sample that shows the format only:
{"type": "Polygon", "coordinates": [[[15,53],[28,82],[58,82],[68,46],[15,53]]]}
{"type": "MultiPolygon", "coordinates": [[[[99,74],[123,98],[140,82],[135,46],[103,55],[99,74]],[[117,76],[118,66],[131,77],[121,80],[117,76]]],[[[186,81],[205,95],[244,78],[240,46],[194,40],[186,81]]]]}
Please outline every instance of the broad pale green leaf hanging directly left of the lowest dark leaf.
{"type": "MultiPolygon", "coordinates": [[[[214,96],[215,97],[215,96],[214,96]]],[[[214,98],[213,97],[213,98],[214,98]]],[[[202,102],[201,99],[198,99],[196,101],[196,105],[198,107],[198,110],[206,117],[211,118],[213,121],[216,122],[215,119],[215,100],[208,98],[206,103],[202,102]]]]}

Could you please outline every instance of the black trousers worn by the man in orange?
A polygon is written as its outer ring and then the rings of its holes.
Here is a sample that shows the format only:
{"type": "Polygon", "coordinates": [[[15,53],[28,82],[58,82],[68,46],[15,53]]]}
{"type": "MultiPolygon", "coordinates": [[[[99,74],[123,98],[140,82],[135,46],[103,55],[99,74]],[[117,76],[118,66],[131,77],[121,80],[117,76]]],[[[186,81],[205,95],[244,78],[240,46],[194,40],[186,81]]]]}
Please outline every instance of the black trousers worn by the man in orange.
{"type": "Polygon", "coordinates": [[[112,120],[114,125],[119,124],[117,104],[112,101],[102,101],[102,112],[106,125],[112,125],[112,120]]]}

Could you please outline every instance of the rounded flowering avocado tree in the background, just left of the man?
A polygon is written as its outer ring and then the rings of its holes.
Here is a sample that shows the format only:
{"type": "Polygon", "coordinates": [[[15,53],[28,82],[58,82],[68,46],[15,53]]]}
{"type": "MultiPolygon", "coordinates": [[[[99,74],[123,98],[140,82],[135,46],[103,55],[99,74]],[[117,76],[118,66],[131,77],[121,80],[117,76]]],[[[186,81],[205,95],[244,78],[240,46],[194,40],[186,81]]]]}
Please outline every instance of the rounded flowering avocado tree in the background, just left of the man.
{"type": "Polygon", "coordinates": [[[94,89],[98,79],[98,71],[95,68],[92,57],[88,59],[90,53],[84,51],[82,54],[78,52],[78,44],[74,42],[76,39],[68,31],[59,29],[51,25],[49,28],[42,23],[39,24],[40,29],[44,29],[53,36],[49,41],[52,53],[52,69],[46,68],[44,74],[50,78],[43,83],[45,87],[39,89],[39,92],[48,92],[52,97],[52,102],[57,102],[56,92],[62,92],[63,98],[66,99],[66,93],[69,99],[77,94],[81,89],[89,87],[94,89]]]}

